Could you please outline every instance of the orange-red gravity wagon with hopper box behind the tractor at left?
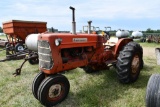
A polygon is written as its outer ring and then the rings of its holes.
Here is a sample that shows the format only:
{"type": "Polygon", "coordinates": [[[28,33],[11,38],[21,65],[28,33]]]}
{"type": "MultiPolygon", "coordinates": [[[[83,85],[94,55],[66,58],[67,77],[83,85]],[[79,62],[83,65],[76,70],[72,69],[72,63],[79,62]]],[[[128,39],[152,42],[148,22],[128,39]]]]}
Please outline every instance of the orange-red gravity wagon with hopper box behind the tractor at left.
{"type": "Polygon", "coordinates": [[[11,20],[3,23],[3,32],[7,40],[1,40],[6,49],[6,59],[21,59],[28,53],[25,39],[29,34],[47,31],[46,22],[11,20]]]}

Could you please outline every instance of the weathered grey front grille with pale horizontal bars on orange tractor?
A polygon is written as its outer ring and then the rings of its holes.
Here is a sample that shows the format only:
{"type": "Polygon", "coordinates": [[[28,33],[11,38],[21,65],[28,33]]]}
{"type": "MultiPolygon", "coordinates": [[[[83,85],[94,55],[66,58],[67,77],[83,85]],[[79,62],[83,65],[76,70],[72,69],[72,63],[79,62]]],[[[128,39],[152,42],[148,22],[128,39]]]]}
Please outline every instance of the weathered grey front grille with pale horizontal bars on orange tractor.
{"type": "Polygon", "coordinates": [[[47,41],[38,41],[38,55],[40,68],[49,70],[53,67],[51,48],[47,41]]]}

